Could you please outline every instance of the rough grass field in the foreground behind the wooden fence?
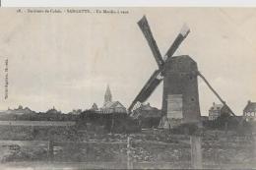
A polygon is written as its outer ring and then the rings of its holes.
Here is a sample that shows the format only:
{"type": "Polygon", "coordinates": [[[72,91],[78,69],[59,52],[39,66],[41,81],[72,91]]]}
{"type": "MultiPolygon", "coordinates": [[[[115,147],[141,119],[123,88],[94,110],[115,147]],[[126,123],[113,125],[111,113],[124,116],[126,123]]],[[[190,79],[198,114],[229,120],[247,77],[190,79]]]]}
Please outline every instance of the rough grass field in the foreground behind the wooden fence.
{"type": "MultiPolygon", "coordinates": [[[[0,160],[4,166],[39,169],[36,166],[39,162],[42,169],[57,169],[66,165],[70,169],[80,168],[80,165],[82,169],[126,168],[127,134],[77,131],[76,126],[65,126],[73,125],[67,122],[10,121],[11,126],[8,122],[0,121],[0,160]],[[53,136],[54,154],[51,158],[53,163],[48,164],[45,162],[48,161],[50,136],[53,136]]],[[[242,167],[256,167],[253,166],[256,160],[252,154],[253,141],[238,138],[230,132],[206,134],[207,137],[202,137],[204,167],[239,168],[239,164],[243,163],[248,166],[242,167]]],[[[132,139],[130,156],[134,168],[190,167],[191,149],[182,146],[189,145],[189,136],[173,135],[163,130],[148,130],[129,136],[132,139]]],[[[0,166],[0,169],[3,168],[0,166]]]]}

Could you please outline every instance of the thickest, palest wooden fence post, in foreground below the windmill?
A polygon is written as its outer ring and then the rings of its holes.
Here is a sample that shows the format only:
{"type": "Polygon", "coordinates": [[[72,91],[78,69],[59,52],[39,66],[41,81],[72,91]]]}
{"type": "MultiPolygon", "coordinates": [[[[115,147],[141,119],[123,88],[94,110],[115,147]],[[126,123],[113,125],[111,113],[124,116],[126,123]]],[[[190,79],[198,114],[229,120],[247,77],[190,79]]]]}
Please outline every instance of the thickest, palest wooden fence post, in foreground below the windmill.
{"type": "Polygon", "coordinates": [[[196,136],[190,137],[191,143],[191,166],[195,169],[202,169],[202,149],[201,138],[196,136]]]}

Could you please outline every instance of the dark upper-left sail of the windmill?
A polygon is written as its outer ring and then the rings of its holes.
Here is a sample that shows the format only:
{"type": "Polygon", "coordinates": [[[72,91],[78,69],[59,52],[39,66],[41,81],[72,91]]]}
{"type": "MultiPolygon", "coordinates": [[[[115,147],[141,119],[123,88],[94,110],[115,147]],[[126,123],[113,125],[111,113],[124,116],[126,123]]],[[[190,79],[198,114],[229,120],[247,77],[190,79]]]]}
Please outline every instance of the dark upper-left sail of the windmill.
{"type": "Polygon", "coordinates": [[[139,27],[141,28],[144,36],[146,37],[149,45],[150,45],[150,48],[153,52],[153,55],[159,65],[159,68],[161,68],[161,66],[164,64],[163,60],[162,60],[162,57],[160,55],[160,49],[157,45],[157,42],[156,40],[154,39],[153,37],[153,34],[152,34],[152,31],[151,31],[151,28],[149,26],[149,23],[147,21],[147,18],[144,16],[139,22],[138,22],[138,25],[139,27]]]}

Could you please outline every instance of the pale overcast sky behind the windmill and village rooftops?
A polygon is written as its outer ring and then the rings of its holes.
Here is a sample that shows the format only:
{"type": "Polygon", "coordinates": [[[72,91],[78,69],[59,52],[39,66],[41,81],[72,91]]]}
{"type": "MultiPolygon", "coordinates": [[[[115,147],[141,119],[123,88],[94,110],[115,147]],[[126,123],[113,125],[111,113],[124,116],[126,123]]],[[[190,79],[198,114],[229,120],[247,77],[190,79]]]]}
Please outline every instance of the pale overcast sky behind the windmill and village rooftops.
{"type": "MultiPolygon", "coordinates": [[[[94,10],[94,9],[91,9],[94,10]]],[[[256,10],[236,8],[133,8],[126,15],[17,14],[0,10],[0,110],[18,105],[68,112],[103,103],[109,84],[126,107],[158,68],[137,22],[146,15],[160,53],[180,28],[191,32],[175,55],[190,55],[226,103],[241,115],[256,101],[256,10]],[[9,97],[4,99],[4,60],[9,97]]],[[[200,80],[202,115],[220,101],[200,80]]],[[[162,84],[149,98],[161,107],[162,84]]]]}

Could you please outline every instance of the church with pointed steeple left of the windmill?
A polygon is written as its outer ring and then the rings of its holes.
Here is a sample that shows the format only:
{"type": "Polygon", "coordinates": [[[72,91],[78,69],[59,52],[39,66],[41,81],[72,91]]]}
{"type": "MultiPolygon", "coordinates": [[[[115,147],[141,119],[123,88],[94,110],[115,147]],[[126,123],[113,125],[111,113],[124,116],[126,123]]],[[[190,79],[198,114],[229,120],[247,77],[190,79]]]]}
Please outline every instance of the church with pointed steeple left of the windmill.
{"type": "Polygon", "coordinates": [[[112,101],[112,94],[109,85],[106,86],[104,103],[100,108],[103,113],[126,113],[126,108],[119,101],[112,101]]]}

